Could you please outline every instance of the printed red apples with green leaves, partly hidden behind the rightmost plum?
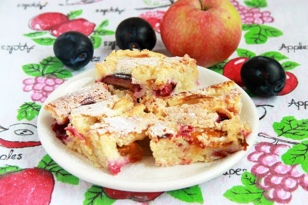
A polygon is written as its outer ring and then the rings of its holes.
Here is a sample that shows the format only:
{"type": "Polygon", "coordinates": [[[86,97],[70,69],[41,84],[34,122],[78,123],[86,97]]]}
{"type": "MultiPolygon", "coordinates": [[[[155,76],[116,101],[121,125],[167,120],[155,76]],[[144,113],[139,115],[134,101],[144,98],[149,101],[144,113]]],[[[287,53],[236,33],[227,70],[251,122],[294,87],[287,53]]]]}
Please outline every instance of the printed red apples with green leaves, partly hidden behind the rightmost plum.
{"type": "MultiPolygon", "coordinates": [[[[256,56],[256,53],[246,50],[246,49],[240,49],[240,48],[238,48],[236,52],[239,57],[231,59],[231,60],[226,59],[222,63],[212,66],[209,69],[217,73],[220,73],[229,79],[234,80],[236,84],[244,87],[244,84],[241,79],[242,65],[249,58],[256,56]]],[[[282,55],[281,53],[277,51],[268,51],[265,53],[261,53],[259,55],[272,57],[278,61],[288,59],[288,57],[286,57],[285,55],[282,55]]],[[[298,85],[297,77],[289,71],[296,68],[297,66],[300,66],[300,64],[294,61],[284,61],[283,63],[281,63],[281,66],[283,67],[286,73],[286,84],[283,90],[278,95],[286,95],[288,93],[291,93],[298,85]]],[[[249,90],[246,89],[246,92],[249,94],[249,96],[255,97],[255,95],[251,93],[249,90]]]]}

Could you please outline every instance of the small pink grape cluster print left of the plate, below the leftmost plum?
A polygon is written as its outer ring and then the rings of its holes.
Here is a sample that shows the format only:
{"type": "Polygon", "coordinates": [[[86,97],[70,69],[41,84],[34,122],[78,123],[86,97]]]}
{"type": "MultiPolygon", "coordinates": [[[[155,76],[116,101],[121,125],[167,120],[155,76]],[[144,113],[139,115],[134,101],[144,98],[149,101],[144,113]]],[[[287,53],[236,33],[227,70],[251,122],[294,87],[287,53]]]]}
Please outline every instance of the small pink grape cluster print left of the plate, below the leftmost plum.
{"type": "Polygon", "coordinates": [[[23,81],[23,91],[33,91],[31,94],[32,101],[40,101],[41,103],[44,103],[50,93],[63,84],[64,81],[64,79],[52,77],[26,78],[23,81]]]}

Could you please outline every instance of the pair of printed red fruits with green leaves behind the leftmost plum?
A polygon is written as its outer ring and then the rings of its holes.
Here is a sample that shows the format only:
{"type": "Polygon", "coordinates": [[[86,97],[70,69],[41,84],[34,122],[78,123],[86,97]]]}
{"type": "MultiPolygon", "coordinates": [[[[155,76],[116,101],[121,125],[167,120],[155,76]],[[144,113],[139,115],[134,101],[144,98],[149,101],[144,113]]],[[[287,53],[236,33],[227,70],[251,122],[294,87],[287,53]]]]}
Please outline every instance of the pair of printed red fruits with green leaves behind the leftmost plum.
{"type": "Polygon", "coordinates": [[[40,45],[53,45],[57,36],[67,31],[81,32],[91,39],[94,49],[99,48],[102,43],[100,36],[113,35],[115,32],[106,30],[109,20],[103,22],[97,27],[94,23],[85,18],[76,18],[82,14],[82,10],[71,11],[67,15],[57,12],[47,12],[34,16],[29,20],[29,27],[36,32],[24,34],[40,45]],[[96,27],[96,29],[95,29],[96,27]],[[52,37],[47,37],[51,35],[52,37]],[[38,37],[39,36],[39,37],[38,37]]]}

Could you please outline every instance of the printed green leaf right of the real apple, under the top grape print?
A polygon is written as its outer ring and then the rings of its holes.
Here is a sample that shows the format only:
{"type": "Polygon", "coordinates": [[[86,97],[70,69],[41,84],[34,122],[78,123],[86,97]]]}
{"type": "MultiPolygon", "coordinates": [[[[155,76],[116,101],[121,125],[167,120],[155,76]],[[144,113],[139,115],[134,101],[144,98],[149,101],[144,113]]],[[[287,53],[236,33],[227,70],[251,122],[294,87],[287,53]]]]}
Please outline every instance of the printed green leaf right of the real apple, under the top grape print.
{"type": "Polygon", "coordinates": [[[282,31],[274,27],[258,24],[243,24],[242,30],[248,31],[244,35],[246,44],[264,44],[268,37],[278,37],[283,34],[282,31]]]}

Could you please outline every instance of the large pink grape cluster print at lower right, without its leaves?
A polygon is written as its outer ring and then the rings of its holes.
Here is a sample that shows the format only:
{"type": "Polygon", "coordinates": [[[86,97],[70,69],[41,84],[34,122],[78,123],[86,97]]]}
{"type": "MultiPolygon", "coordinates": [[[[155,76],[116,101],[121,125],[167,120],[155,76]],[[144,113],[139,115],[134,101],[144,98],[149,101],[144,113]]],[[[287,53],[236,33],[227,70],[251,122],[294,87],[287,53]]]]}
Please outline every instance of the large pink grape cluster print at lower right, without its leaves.
{"type": "Polygon", "coordinates": [[[278,203],[288,203],[292,199],[292,192],[299,186],[307,190],[308,175],[303,174],[299,165],[285,165],[281,161],[289,146],[274,145],[269,142],[260,142],[255,151],[247,156],[254,162],[252,174],[256,176],[257,188],[264,190],[267,200],[278,203]]]}

